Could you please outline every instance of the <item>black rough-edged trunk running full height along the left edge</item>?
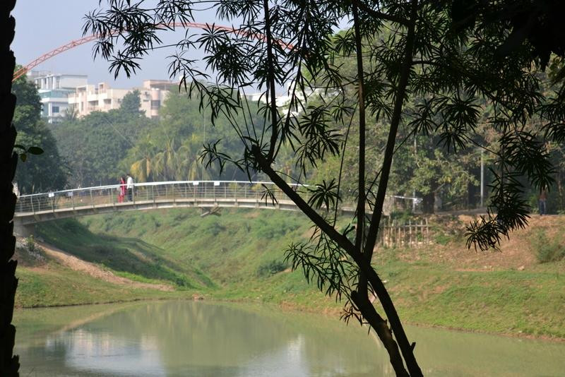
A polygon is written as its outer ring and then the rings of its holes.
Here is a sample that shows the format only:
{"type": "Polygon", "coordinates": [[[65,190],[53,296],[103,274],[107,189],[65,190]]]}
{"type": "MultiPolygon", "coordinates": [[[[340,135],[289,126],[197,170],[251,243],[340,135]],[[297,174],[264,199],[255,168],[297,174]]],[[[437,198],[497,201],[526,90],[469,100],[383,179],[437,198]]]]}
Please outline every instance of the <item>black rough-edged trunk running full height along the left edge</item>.
{"type": "Polygon", "coordinates": [[[16,21],[10,12],[16,0],[0,1],[0,376],[19,376],[20,364],[13,356],[16,328],[11,324],[18,280],[16,261],[11,261],[16,246],[13,213],[16,196],[12,180],[18,155],[13,152],[16,128],[12,124],[16,96],[11,93],[16,59],[10,51],[16,21]]]}

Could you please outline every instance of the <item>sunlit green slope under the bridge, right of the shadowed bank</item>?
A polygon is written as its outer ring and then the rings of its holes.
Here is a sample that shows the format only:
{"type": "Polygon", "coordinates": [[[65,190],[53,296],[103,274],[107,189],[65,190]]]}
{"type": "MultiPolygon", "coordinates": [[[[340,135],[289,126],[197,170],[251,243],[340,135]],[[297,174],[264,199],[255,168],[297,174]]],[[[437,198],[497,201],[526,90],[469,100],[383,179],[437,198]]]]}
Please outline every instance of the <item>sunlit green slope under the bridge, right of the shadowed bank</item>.
{"type": "Polygon", "coordinates": [[[221,216],[200,217],[197,210],[179,209],[115,213],[81,222],[95,234],[159,245],[162,258],[204,271],[212,283],[203,292],[212,297],[339,307],[311,289],[301,273],[287,270],[285,249],[310,229],[298,213],[225,210],[221,216]]]}

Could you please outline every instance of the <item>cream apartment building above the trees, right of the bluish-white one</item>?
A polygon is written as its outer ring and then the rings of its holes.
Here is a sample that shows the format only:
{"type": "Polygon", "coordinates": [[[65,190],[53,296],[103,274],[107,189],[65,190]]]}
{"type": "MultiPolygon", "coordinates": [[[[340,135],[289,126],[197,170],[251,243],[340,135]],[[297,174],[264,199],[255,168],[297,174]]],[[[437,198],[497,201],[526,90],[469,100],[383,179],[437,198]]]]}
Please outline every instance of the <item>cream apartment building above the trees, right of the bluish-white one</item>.
{"type": "Polygon", "coordinates": [[[96,111],[107,112],[111,109],[119,109],[121,100],[126,94],[139,90],[141,100],[139,109],[145,112],[145,116],[154,118],[159,116],[159,109],[167,98],[169,90],[176,86],[177,84],[167,80],[144,80],[143,87],[133,89],[114,89],[107,83],[82,85],[69,95],[69,106],[76,109],[78,116],[96,111]]]}

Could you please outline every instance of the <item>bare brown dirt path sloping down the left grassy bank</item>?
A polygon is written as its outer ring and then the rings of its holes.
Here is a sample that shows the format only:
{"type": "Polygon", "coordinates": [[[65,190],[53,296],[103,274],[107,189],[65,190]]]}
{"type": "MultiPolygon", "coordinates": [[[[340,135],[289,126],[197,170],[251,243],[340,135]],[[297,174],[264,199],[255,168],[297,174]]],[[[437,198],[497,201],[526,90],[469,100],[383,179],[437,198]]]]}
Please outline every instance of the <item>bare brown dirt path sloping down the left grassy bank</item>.
{"type": "Polygon", "coordinates": [[[82,259],[76,258],[76,256],[71,256],[71,254],[65,253],[61,249],[57,249],[54,246],[44,244],[42,242],[37,242],[37,245],[41,246],[48,256],[56,259],[62,265],[66,265],[66,267],[71,268],[71,270],[75,270],[80,273],[86,273],[97,279],[104,280],[105,282],[111,282],[119,285],[128,285],[129,287],[133,288],[150,288],[158,289],[160,291],[174,290],[170,285],[134,282],[133,280],[127,279],[126,277],[116,276],[110,271],[103,270],[94,263],[83,261],[82,259]]]}

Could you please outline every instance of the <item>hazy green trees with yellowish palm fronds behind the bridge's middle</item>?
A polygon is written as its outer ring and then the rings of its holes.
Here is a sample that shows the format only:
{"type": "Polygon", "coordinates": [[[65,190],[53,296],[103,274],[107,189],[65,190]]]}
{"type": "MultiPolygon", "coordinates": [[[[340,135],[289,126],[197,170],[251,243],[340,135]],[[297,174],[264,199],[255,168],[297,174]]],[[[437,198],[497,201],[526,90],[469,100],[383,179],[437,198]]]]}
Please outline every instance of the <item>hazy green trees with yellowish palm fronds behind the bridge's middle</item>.
{"type": "MultiPolygon", "coordinates": [[[[221,172],[215,167],[204,169],[199,159],[202,145],[210,133],[214,140],[221,139],[218,148],[224,152],[239,152],[244,148],[227,117],[220,114],[214,122],[208,112],[198,109],[196,99],[179,92],[171,92],[160,110],[158,126],[145,128],[120,166],[129,169],[137,181],[170,181],[193,179],[246,179],[246,175],[227,166],[221,172]]],[[[251,111],[256,106],[251,104],[251,111]]],[[[260,121],[254,116],[256,124],[260,121]]],[[[243,118],[238,119],[239,122],[243,118]]]]}

